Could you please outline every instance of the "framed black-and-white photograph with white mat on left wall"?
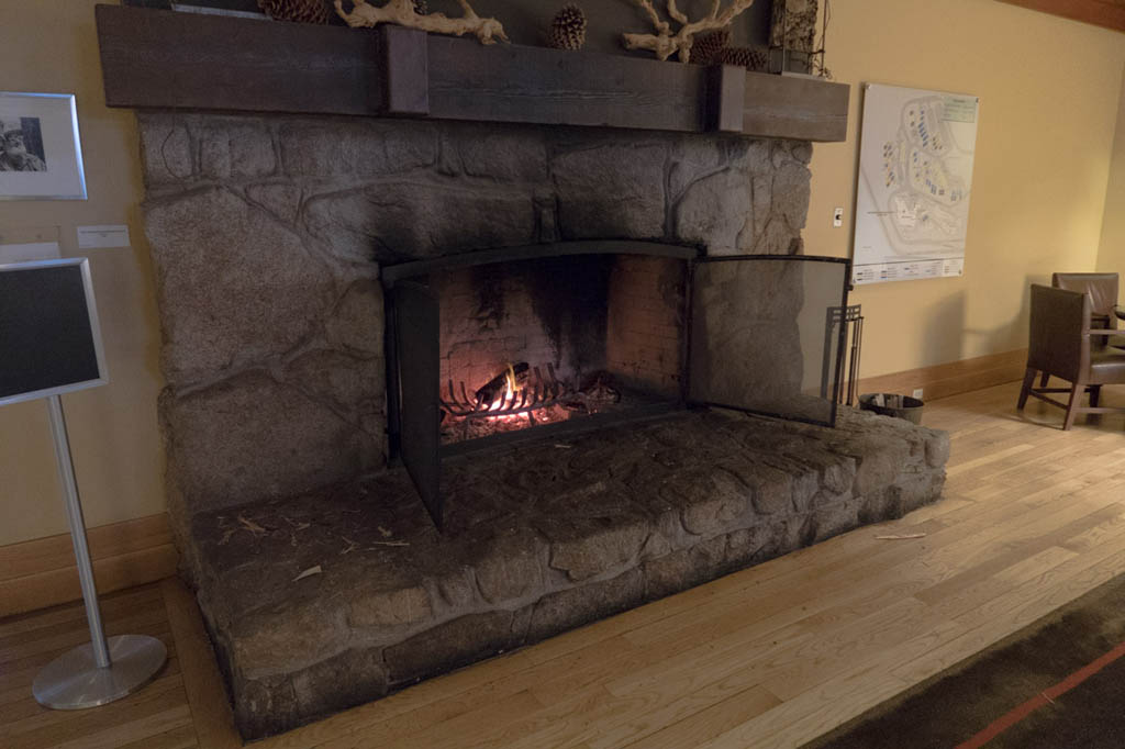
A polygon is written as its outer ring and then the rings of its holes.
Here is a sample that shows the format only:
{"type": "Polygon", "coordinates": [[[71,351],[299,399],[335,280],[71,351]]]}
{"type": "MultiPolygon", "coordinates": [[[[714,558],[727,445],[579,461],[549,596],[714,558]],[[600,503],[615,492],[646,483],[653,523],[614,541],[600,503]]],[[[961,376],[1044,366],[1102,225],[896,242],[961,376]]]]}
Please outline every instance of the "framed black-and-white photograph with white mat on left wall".
{"type": "Polygon", "coordinates": [[[0,199],[86,200],[73,93],[0,91],[0,199]]]}

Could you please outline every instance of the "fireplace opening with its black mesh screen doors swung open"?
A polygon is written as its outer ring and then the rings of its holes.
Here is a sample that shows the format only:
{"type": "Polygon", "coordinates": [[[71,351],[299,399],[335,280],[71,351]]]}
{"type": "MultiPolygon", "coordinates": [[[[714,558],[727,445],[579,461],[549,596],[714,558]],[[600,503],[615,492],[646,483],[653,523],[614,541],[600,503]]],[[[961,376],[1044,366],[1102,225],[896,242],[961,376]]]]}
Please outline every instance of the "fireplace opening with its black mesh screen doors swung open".
{"type": "Polygon", "coordinates": [[[848,267],[566,242],[385,268],[392,458],[440,529],[454,455],[698,406],[835,426],[848,267]]]}

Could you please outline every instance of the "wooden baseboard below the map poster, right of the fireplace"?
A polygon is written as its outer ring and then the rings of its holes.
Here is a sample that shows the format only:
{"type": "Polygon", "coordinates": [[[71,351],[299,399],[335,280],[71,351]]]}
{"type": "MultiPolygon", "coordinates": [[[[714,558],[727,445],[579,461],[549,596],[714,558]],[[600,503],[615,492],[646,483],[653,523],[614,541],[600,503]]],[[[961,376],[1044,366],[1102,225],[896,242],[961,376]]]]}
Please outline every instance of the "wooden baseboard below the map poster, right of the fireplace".
{"type": "Polygon", "coordinates": [[[934,367],[921,367],[904,372],[863,378],[860,380],[860,392],[910,395],[917,388],[921,388],[924,400],[935,400],[1020,380],[1024,377],[1026,366],[1027,349],[1018,349],[934,367]]]}

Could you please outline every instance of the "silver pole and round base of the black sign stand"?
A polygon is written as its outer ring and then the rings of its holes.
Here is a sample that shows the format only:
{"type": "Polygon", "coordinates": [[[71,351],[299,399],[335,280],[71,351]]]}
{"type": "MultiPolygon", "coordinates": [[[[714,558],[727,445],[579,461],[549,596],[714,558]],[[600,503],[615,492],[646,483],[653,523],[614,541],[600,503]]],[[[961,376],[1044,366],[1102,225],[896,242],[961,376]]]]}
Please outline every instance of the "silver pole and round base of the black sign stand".
{"type": "Polygon", "coordinates": [[[86,617],[90,624],[90,642],[51,661],[35,677],[32,693],[45,707],[82,710],[120,700],[146,685],[164,666],[168,651],[163,642],[144,634],[122,634],[106,639],[101,628],[93,567],[90,563],[90,549],[86,540],[82,505],[79,502],[78,484],[74,481],[66,419],[57,395],[48,396],[46,400],[58,478],[63,485],[63,504],[66,506],[71,540],[74,542],[74,559],[82,584],[86,617]]]}

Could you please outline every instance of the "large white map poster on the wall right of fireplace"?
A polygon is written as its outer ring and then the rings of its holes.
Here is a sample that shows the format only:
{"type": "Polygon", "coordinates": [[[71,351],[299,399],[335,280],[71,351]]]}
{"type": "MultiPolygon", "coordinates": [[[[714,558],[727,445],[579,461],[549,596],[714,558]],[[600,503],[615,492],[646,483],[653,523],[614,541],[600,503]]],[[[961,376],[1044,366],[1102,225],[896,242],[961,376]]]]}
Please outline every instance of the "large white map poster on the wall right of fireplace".
{"type": "Polygon", "coordinates": [[[980,100],[864,87],[854,283],[961,276],[980,100]]]}

